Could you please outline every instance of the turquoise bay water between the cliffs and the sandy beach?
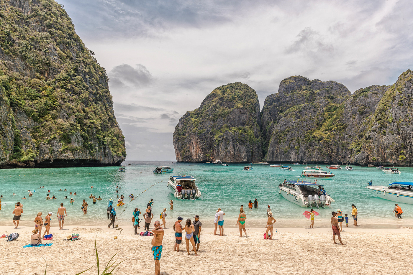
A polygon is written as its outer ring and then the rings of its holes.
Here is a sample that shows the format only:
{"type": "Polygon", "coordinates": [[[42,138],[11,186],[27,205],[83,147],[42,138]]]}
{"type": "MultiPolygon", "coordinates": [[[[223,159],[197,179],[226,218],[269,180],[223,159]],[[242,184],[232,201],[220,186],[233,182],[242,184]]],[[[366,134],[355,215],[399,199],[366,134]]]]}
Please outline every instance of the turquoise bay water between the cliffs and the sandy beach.
{"type": "MultiPolygon", "coordinates": [[[[226,213],[225,219],[235,220],[238,217],[240,205],[244,205],[249,221],[258,224],[266,219],[266,208],[269,204],[278,221],[286,226],[299,225],[305,222],[302,215],[306,209],[288,202],[279,194],[278,185],[286,178],[295,180],[303,170],[302,165],[294,165],[294,171],[281,170],[278,167],[253,165],[253,171],[243,171],[243,164],[230,164],[220,166],[213,164],[186,164],[172,163],[171,161],[129,161],[124,164],[127,171],[117,172],[117,167],[86,167],[86,168],[32,168],[32,169],[3,169],[0,171],[0,194],[2,198],[2,210],[0,221],[3,225],[12,225],[12,211],[16,202],[24,204],[24,213],[21,223],[31,225],[37,212],[57,212],[60,203],[63,202],[68,216],[65,219],[67,225],[93,225],[109,223],[106,209],[110,198],[116,201],[116,195],[123,194],[128,204],[126,211],[124,206],[116,207],[119,216],[117,223],[127,223],[131,220],[131,212],[135,207],[145,211],[147,202],[154,199],[154,217],[157,218],[163,208],[167,208],[168,220],[176,220],[176,217],[191,218],[198,214],[201,220],[212,221],[218,207],[226,213]],[[171,166],[172,174],[153,174],[156,166],[171,166]],[[197,179],[197,186],[202,192],[202,198],[197,200],[181,201],[175,199],[166,187],[170,175],[192,175],[197,179]],[[157,183],[164,180],[161,183],[157,183]],[[157,183],[156,185],[154,185],[157,183]],[[44,189],[39,189],[40,185],[44,189]],[[94,188],[91,189],[90,186],[94,188]],[[116,185],[121,187],[119,193],[115,193],[116,185]],[[154,185],[150,189],[151,185],[154,185]],[[59,189],[65,191],[58,191],[59,189]],[[147,190],[148,189],[148,190],[147,190]],[[28,190],[35,190],[33,197],[28,197],[28,190]],[[51,190],[50,197],[55,195],[56,200],[46,200],[47,190],[51,190]],[[145,191],[147,190],[147,191],[145,191]],[[141,195],[139,195],[142,191],[141,195]],[[16,195],[13,196],[12,193],[16,195]],[[77,192],[76,196],[69,192],[77,192]],[[90,193],[101,196],[102,201],[92,204],[90,193]],[[135,200],[129,203],[128,195],[133,193],[135,200]],[[26,195],[28,199],[21,199],[26,195]],[[138,196],[139,195],[139,196],[138,196]],[[68,199],[64,199],[67,196],[68,199]],[[138,196],[138,197],[137,197],[138,196]],[[75,199],[74,205],[69,200],[75,199]],[[247,209],[249,200],[258,199],[259,209],[247,209]],[[88,214],[81,211],[82,200],[88,202],[88,214]],[[173,199],[174,209],[169,210],[169,200],[173,199]]],[[[322,166],[325,170],[325,165],[322,166]]],[[[343,214],[349,214],[349,222],[352,224],[351,204],[357,206],[359,222],[369,220],[374,223],[396,223],[392,213],[394,202],[374,197],[365,188],[367,182],[373,180],[373,185],[388,185],[396,181],[413,182],[413,168],[399,168],[400,175],[387,175],[375,168],[353,166],[354,171],[329,170],[336,175],[331,179],[318,180],[325,186],[328,194],[335,199],[332,204],[334,209],[340,208],[343,214]]],[[[305,178],[301,178],[305,179],[305,178]]],[[[413,205],[400,204],[403,209],[404,222],[413,221],[413,205]]],[[[307,209],[308,210],[308,209],[307,209]]],[[[329,219],[331,209],[317,210],[318,219],[329,219]]],[[[54,215],[52,224],[57,224],[54,215]]],[[[265,224],[265,221],[264,221],[265,224]]],[[[232,223],[231,223],[232,225],[232,223]]],[[[280,224],[281,225],[281,224],[280,224]]],[[[207,226],[207,224],[206,224],[207,226]]],[[[212,226],[212,225],[211,225],[212,226]]],[[[207,226],[208,227],[208,226],[207,226]]]]}

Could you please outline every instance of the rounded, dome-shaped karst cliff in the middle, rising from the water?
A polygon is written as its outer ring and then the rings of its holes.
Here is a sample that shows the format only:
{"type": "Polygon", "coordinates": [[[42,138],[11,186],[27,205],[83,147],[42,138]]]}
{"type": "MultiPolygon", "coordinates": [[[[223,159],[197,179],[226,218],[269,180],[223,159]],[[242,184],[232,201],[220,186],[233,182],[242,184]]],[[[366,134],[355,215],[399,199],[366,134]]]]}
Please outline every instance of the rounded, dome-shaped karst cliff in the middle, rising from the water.
{"type": "Polygon", "coordinates": [[[256,92],[230,83],[213,90],[194,111],[179,120],[173,133],[176,159],[184,162],[260,161],[261,114],[256,92]]]}

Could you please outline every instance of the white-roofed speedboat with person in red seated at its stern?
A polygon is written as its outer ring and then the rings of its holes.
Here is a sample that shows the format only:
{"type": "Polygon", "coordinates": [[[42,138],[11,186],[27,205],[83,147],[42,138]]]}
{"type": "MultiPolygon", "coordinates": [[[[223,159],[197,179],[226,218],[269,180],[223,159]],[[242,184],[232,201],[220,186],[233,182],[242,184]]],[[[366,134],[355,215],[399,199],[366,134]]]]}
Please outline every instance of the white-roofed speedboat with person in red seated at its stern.
{"type": "Polygon", "coordinates": [[[171,176],[167,186],[177,199],[197,199],[201,197],[201,191],[195,185],[195,180],[194,177],[185,175],[171,176]]]}

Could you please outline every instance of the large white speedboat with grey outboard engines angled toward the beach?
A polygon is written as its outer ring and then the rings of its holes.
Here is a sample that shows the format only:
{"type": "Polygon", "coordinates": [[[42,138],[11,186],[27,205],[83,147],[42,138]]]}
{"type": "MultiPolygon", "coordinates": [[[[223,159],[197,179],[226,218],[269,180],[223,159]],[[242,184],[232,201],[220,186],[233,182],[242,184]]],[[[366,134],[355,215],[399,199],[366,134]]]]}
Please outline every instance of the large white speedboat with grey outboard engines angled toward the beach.
{"type": "Polygon", "coordinates": [[[294,204],[301,207],[322,207],[331,205],[335,202],[326,192],[322,192],[323,185],[303,181],[303,180],[285,180],[278,185],[280,194],[294,204]]]}

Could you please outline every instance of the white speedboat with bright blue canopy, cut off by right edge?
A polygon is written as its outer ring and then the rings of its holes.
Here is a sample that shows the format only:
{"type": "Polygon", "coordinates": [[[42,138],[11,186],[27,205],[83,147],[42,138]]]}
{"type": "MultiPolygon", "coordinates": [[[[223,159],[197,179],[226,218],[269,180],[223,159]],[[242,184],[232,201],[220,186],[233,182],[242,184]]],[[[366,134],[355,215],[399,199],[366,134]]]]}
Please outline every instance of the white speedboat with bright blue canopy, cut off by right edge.
{"type": "Polygon", "coordinates": [[[389,186],[366,186],[376,197],[413,204],[413,183],[390,183],[389,186]]]}

